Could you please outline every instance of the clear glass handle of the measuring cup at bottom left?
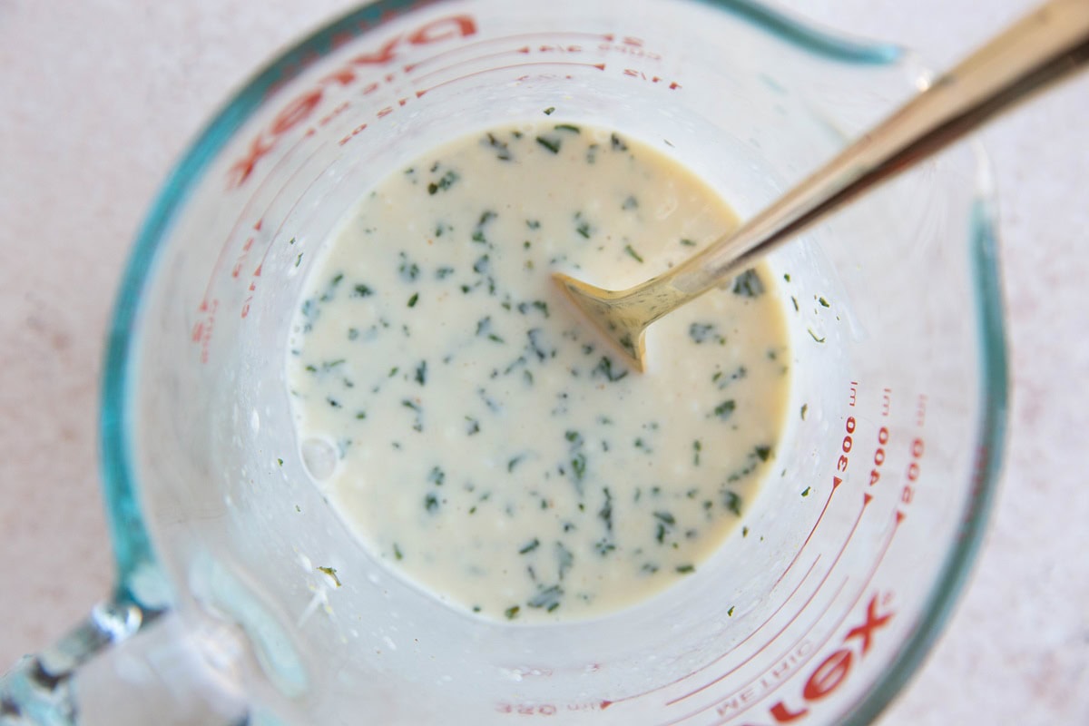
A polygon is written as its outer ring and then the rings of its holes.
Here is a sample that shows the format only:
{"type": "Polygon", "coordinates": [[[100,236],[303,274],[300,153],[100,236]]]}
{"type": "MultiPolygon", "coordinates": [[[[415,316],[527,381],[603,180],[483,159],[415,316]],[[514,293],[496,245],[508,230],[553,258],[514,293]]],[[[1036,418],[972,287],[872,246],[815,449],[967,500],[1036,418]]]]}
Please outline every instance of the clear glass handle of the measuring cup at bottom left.
{"type": "Polygon", "coordinates": [[[100,603],[0,677],[0,726],[240,726],[241,652],[230,626],[195,631],[172,611],[100,603]]]}

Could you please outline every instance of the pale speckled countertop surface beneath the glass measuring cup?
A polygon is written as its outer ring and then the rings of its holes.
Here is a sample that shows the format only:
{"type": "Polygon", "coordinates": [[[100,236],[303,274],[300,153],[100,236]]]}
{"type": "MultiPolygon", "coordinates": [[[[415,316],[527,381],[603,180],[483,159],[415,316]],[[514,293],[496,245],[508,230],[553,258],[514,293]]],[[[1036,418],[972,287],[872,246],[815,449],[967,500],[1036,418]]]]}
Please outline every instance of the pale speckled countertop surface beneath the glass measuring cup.
{"type": "MultiPolygon", "coordinates": [[[[111,580],[103,331],[174,158],[274,49],[346,0],[0,0],[0,669],[111,580]]],[[[790,0],[935,65],[1028,0],[790,0]]],[[[1001,199],[1013,405],[967,591],[883,726],[1089,724],[1089,76],[983,134],[1001,199]]]]}

